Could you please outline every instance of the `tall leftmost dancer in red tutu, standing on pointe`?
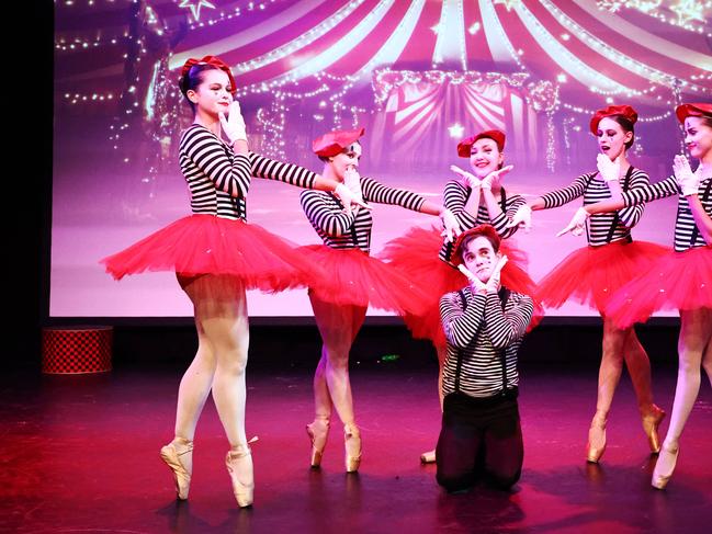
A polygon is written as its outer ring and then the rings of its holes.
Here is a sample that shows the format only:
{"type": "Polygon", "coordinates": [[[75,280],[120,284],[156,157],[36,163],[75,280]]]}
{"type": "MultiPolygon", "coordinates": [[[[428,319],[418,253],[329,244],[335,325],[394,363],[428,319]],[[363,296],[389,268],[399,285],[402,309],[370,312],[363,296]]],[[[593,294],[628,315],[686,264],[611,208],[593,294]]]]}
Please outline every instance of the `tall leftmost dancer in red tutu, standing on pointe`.
{"type": "Polygon", "coordinates": [[[187,499],[195,425],[212,390],[230,443],[226,465],[233,490],[238,504],[248,507],[255,482],[245,435],[249,342],[245,291],[275,292],[305,285],[314,269],[286,241],[247,224],[250,181],[257,177],[335,191],[349,207],[353,195],[334,180],[248,150],[245,121],[239,104],[233,101],[235,80],[217,57],[189,59],[180,89],[194,112],[194,122],[180,141],[180,166],[193,215],[102,262],[117,280],[144,271],[176,272],[193,303],[199,346],[178,391],[176,436],[160,455],[173,473],[178,498],[187,499]]]}

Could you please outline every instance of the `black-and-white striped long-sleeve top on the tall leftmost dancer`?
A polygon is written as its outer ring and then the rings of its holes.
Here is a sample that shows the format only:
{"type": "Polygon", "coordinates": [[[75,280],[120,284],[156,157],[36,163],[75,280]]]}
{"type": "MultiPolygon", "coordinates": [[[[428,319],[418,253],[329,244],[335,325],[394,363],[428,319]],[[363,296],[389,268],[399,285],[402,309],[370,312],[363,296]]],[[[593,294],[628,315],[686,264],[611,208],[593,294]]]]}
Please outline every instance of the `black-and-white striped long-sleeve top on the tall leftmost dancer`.
{"type": "Polygon", "coordinates": [[[191,192],[194,214],[247,219],[247,193],[252,177],[314,188],[316,174],[303,167],[253,152],[236,155],[204,126],[193,124],[181,136],[180,167],[191,192]]]}

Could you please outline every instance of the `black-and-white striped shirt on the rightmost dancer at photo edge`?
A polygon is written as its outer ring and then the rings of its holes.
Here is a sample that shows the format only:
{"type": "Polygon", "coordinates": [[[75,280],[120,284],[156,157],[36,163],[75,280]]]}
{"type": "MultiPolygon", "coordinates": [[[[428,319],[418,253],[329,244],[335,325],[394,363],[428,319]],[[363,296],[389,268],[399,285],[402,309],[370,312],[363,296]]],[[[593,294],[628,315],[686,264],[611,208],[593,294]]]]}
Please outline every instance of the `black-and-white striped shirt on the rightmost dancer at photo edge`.
{"type": "MultiPolygon", "coordinates": [[[[712,217],[712,178],[700,181],[698,188],[698,196],[704,212],[712,217]]],[[[702,235],[697,230],[694,217],[690,211],[690,204],[687,197],[682,196],[675,177],[667,178],[662,182],[651,183],[636,190],[631,190],[623,193],[623,202],[626,206],[634,206],[643,202],[657,201],[666,196],[678,195],[677,202],[677,218],[675,220],[675,250],[683,252],[685,250],[693,247],[707,247],[707,242],[702,235]]]]}

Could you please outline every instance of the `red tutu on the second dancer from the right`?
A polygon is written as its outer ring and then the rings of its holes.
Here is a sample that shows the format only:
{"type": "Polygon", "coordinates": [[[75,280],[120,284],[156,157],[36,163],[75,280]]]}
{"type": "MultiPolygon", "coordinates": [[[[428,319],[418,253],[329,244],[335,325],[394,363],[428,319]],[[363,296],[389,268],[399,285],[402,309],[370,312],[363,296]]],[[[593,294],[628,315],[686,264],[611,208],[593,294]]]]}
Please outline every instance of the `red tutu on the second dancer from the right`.
{"type": "Polygon", "coordinates": [[[668,252],[666,247],[645,241],[615,241],[575,250],[539,283],[538,300],[558,308],[574,298],[602,314],[613,293],[668,252]]]}

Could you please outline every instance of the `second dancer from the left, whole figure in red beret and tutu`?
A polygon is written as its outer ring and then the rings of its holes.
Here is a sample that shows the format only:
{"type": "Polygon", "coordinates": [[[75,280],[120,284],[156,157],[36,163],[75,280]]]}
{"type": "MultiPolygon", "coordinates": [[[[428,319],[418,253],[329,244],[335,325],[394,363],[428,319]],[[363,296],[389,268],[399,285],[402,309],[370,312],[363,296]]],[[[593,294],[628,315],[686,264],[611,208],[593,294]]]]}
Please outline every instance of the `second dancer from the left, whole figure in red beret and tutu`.
{"type": "MultiPolygon", "coordinates": [[[[330,132],[314,140],[314,152],[324,161],[324,175],[343,182],[364,202],[395,204],[406,209],[439,215],[449,238],[459,232],[455,217],[417,193],[387,188],[359,174],[363,128],[330,132]]],[[[346,470],[357,471],[361,462],[361,435],[355,422],[349,351],[370,305],[398,315],[422,310],[425,295],[398,270],[369,255],[373,219],[368,209],[344,212],[329,193],[305,191],[302,207],[324,245],[307,247],[327,276],[309,288],[309,299],[321,334],[321,357],[314,375],[314,422],[307,424],[312,440],[312,466],[317,467],[326,445],[331,409],[343,423],[346,470]]]]}

